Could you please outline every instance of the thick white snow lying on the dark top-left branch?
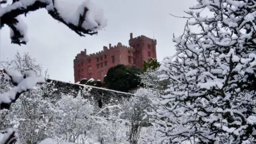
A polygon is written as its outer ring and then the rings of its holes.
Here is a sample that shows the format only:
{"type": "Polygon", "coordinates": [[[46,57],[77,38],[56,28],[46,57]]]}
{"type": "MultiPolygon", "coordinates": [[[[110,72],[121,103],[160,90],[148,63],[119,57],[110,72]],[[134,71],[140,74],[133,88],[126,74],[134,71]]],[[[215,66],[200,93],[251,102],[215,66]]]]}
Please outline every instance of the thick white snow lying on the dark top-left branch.
{"type": "MultiPolygon", "coordinates": [[[[107,26],[107,20],[103,16],[103,10],[100,9],[97,5],[93,4],[91,0],[84,0],[84,1],[69,1],[69,0],[20,0],[13,4],[7,4],[5,7],[1,7],[0,15],[1,17],[13,10],[17,9],[27,9],[28,6],[33,5],[35,2],[42,2],[46,3],[47,6],[45,9],[47,11],[54,11],[60,15],[60,18],[63,19],[66,23],[71,23],[77,27],[82,27],[86,30],[97,31],[105,28],[107,26]],[[82,25],[79,25],[79,19],[84,14],[84,11],[87,8],[87,12],[85,14],[85,18],[83,19],[82,25]]],[[[21,33],[22,38],[19,39],[22,42],[28,42],[28,35],[27,35],[27,25],[22,21],[20,16],[17,17],[18,23],[14,26],[18,29],[21,33]]],[[[10,37],[13,37],[13,30],[10,30],[10,37]]]]}

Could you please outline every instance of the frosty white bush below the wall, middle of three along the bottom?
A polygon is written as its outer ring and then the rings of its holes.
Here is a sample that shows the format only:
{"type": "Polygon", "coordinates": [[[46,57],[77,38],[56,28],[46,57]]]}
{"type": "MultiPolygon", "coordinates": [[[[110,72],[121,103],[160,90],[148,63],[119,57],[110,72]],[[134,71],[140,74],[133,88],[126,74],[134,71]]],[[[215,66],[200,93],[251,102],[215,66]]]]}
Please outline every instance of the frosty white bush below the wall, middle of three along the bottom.
{"type": "Polygon", "coordinates": [[[60,117],[63,117],[55,133],[59,138],[68,142],[83,143],[92,129],[90,121],[94,106],[81,94],[74,98],[72,95],[64,95],[58,102],[60,117]]]}

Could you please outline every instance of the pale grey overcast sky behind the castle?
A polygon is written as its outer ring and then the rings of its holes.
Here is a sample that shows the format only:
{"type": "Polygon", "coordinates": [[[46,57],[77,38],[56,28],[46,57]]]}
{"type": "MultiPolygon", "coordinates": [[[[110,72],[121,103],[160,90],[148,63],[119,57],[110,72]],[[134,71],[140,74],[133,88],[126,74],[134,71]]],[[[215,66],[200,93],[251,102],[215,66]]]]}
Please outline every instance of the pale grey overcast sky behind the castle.
{"type": "MultiPolygon", "coordinates": [[[[69,0],[67,0],[69,1],[69,0]]],[[[73,0],[76,1],[76,0],[73,0]]],[[[103,50],[109,43],[121,42],[128,46],[130,33],[133,37],[145,35],[157,39],[157,59],[162,61],[175,52],[172,42],[182,34],[186,19],[174,18],[184,15],[184,10],[195,4],[195,0],[93,0],[103,9],[108,25],[98,35],[79,37],[74,31],[54,20],[46,10],[30,12],[24,21],[28,25],[27,45],[14,45],[10,40],[10,29],[1,29],[1,60],[11,59],[17,50],[29,52],[52,79],[74,82],[73,60],[77,53],[87,49],[87,54],[103,50]]]]}

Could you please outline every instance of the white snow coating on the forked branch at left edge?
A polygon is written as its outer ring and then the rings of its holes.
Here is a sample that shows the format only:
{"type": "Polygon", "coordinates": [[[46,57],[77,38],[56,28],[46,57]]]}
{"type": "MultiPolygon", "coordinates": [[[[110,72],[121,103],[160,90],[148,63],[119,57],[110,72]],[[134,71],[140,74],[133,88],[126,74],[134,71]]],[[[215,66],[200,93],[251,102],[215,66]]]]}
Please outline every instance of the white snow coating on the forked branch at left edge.
{"type": "Polygon", "coordinates": [[[22,91],[27,91],[33,89],[37,83],[45,83],[45,79],[42,77],[36,77],[36,74],[32,70],[24,72],[24,76],[19,74],[17,71],[5,69],[7,75],[12,77],[13,82],[17,83],[18,86],[14,87],[12,90],[2,93],[0,95],[0,103],[10,103],[15,99],[17,93],[22,91]]]}

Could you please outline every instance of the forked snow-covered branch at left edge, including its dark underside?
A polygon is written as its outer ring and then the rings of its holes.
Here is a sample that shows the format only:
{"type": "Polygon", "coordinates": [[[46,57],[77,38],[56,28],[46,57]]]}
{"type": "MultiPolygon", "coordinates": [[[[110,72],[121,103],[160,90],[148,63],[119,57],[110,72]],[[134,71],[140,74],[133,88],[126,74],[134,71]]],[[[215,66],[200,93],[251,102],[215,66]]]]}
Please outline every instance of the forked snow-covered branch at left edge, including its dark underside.
{"type": "Polygon", "coordinates": [[[6,74],[5,80],[12,82],[15,87],[0,95],[1,109],[9,109],[11,103],[15,102],[23,92],[33,89],[36,84],[45,83],[45,79],[36,77],[32,70],[25,71],[23,75],[9,69],[4,69],[3,72],[6,74]]]}

